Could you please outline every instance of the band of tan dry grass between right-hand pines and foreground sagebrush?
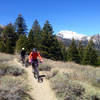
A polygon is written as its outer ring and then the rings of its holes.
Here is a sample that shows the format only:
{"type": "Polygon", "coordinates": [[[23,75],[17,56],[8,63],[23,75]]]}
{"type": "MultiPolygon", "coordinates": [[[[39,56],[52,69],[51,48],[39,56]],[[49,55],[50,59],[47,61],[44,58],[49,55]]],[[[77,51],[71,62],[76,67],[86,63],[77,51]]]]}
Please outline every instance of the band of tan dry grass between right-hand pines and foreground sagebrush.
{"type": "MultiPolygon", "coordinates": [[[[93,66],[83,66],[73,62],[57,62],[44,59],[44,65],[50,66],[52,70],[58,70],[71,80],[80,80],[89,82],[92,85],[98,86],[100,84],[100,68],[93,66]],[[98,84],[98,85],[97,85],[98,84]]],[[[43,66],[43,65],[42,65],[43,66]]],[[[53,73],[53,72],[52,72],[53,73]]]]}

